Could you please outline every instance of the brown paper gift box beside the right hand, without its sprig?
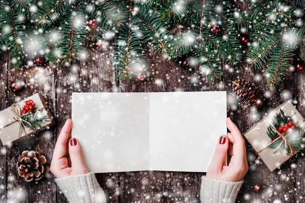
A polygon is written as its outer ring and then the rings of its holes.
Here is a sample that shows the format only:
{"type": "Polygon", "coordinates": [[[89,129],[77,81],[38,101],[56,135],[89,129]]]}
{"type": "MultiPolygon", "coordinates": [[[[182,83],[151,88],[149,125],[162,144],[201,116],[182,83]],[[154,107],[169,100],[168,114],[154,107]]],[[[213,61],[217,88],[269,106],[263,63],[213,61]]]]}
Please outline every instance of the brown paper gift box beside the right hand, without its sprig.
{"type": "Polygon", "coordinates": [[[262,120],[243,133],[243,136],[245,136],[255,151],[260,151],[258,155],[271,172],[276,170],[277,167],[297,153],[296,150],[293,150],[293,153],[288,155],[285,152],[281,153],[279,150],[274,152],[275,149],[267,147],[271,142],[271,139],[267,134],[267,127],[270,125],[275,115],[280,112],[280,109],[288,116],[292,116],[294,114],[292,117],[293,120],[298,122],[301,127],[305,127],[305,122],[303,122],[303,117],[301,114],[294,108],[290,101],[286,101],[284,104],[271,111],[262,120]]]}

